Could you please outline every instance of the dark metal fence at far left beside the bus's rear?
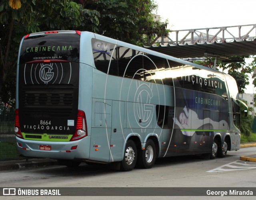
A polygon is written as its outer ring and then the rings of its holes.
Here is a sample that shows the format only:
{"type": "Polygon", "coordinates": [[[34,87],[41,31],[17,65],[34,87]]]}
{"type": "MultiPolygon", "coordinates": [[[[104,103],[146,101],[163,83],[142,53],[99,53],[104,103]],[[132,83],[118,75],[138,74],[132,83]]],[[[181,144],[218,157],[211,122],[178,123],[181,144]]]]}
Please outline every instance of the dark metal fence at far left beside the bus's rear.
{"type": "Polygon", "coordinates": [[[22,159],[15,145],[15,109],[0,106],[0,161],[22,159]]]}

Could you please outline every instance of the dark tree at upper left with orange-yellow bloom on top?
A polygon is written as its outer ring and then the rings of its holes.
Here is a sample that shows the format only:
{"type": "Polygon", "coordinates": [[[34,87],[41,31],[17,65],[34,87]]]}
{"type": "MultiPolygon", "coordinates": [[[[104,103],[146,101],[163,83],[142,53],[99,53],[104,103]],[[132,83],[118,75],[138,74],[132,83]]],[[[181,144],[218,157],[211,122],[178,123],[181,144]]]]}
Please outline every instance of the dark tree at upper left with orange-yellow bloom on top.
{"type": "Polygon", "coordinates": [[[23,35],[37,31],[76,29],[97,31],[100,14],[70,0],[4,0],[0,3],[0,92],[16,67],[23,35]]]}

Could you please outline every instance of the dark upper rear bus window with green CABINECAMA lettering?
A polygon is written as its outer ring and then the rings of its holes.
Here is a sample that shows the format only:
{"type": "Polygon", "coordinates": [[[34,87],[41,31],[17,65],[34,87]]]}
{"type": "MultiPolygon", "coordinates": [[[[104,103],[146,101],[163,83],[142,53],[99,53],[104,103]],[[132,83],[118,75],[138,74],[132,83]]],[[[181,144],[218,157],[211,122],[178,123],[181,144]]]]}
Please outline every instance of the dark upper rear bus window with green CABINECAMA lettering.
{"type": "Polygon", "coordinates": [[[20,64],[40,60],[79,62],[80,35],[72,33],[42,34],[24,39],[20,64]]]}

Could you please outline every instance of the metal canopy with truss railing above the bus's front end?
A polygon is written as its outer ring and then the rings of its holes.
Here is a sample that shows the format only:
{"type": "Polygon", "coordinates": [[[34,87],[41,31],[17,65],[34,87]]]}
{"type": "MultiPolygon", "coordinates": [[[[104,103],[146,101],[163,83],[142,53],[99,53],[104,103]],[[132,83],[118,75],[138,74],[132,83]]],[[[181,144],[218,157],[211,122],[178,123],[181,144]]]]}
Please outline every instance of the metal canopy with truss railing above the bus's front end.
{"type": "Polygon", "coordinates": [[[256,55],[256,24],[177,30],[167,38],[159,46],[145,47],[178,58],[256,55]]]}

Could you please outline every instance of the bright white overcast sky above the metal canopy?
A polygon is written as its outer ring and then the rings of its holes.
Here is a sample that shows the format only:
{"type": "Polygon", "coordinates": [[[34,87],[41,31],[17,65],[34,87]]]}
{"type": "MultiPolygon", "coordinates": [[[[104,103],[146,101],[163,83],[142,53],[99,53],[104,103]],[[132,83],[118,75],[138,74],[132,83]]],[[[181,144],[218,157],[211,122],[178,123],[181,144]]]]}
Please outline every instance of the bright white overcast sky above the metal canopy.
{"type": "MultiPolygon", "coordinates": [[[[256,24],[256,0],[154,0],[172,31],[256,24]]],[[[172,37],[171,37],[172,38],[172,37]]],[[[250,80],[252,82],[252,80],[250,80]]],[[[246,93],[256,93],[250,84],[246,93]]]]}

